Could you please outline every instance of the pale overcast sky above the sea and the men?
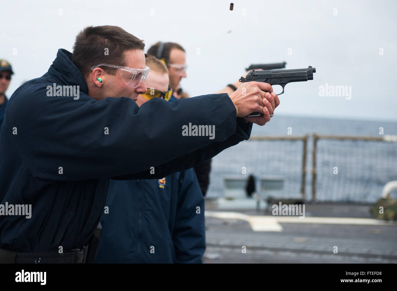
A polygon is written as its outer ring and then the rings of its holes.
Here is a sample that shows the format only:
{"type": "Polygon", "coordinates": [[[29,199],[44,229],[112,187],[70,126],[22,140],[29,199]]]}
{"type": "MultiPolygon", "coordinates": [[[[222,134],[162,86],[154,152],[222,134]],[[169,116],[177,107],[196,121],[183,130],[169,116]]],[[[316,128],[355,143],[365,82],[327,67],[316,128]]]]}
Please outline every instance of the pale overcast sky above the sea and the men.
{"type": "Polygon", "coordinates": [[[215,93],[252,63],[286,61],[317,72],[287,84],[276,114],[397,121],[396,3],[234,0],[230,11],[223,0],[2,1],[0,59],[15,72],[6,95],[42,76],[59,48],[71,51],[84,27],[117,25],[145,40],[145,52],[181,44],[191,96],[215,93]],[[351,99],[320,96],[326,83],[348,86],[351,99]]]}

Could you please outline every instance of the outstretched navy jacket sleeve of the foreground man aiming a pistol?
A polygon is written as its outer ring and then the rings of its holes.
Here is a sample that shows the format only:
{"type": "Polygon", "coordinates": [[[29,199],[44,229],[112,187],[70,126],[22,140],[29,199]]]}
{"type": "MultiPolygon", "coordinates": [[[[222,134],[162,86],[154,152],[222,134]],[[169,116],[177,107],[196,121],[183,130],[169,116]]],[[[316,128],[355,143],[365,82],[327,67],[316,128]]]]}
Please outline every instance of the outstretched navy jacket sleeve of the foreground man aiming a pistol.
{"type": "Polygon", "coordinates": [[[215,156],[251,131],[236,128],[235,107],[227,94],[174,103],[154,98],[139,108],[126,97],[96,101],[82,92],[77,100],[48,97],[46,85],[19,87],[7,112],[12,122],[6,130],[17,128],[10,142],[37,181],[123,176],[158,166],[164,177],[215,156]],[[214,139],[183,136],[182,126],[189,123],[214,125],[214,139]],[[184,165],[176,164],[181,161],[184,165]]]}

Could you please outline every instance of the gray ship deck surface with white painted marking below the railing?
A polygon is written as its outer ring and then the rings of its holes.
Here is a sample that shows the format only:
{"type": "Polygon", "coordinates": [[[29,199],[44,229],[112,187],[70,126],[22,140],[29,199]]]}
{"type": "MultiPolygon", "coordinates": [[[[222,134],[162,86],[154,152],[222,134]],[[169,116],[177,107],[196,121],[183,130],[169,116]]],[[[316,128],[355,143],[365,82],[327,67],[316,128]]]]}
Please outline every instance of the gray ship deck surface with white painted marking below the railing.
{"type": "MultiPolygon", "coordinates": [[[[210,200],[209,200],[210,201],[210,200]]],[[[371,218],[368,205],[306,204],[306,217],[371,218]]],[[[263,209],[206,211],[271,215],[263,209]]],[[[254,232],[247,221],[206,216],[204,263],[397,263],[397,226],[280,223],[281,232],[254,232]],[[242,253],[242,247],[247,253],[242,253]],[[333,247],[338,253],[333,253],[333,247]],[[218,256],[217,259],[206,257],[218,256]]]]}

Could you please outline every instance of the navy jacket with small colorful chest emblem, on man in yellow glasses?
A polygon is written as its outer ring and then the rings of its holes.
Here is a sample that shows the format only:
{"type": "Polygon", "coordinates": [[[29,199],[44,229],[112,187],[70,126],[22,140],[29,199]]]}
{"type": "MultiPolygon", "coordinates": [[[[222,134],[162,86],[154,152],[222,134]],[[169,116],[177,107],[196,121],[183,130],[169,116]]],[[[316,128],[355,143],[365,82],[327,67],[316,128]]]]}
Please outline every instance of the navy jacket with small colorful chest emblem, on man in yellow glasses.
{"type": "Polygon", "coordinates": [[[161,180],[111,180],[105,205],[96,263],[201,262],[204,198],[194,169],[161,180]]]}

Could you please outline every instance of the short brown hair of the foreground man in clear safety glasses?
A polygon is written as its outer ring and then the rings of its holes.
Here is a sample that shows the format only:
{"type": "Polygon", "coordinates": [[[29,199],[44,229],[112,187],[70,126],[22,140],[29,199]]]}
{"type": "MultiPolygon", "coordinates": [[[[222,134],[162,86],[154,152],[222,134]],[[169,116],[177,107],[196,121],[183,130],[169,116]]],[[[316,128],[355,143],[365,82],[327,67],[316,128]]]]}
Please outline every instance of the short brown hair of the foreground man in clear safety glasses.
{"type": "MultiPolygon", "coordinates": [[[[125,66],[124,51],[145,48],[143,40],[133,36],[118,26],[89,26],[76,36],[72,62],[83,76],[91,72],[91,66],[100,63],[125,66]],[[108,54],[106,53],[108,52],[108,54]],[[106,53],[106,54],[105,54],[106,53]]],[[[102,67],[109,74],[117,69],[102,67]]]]}

